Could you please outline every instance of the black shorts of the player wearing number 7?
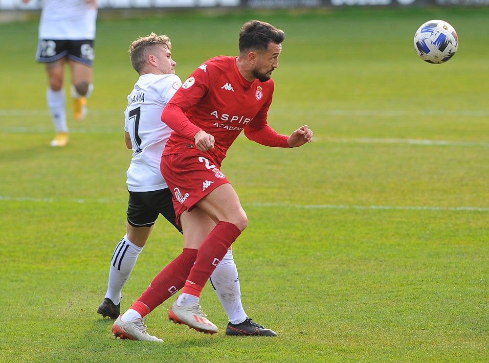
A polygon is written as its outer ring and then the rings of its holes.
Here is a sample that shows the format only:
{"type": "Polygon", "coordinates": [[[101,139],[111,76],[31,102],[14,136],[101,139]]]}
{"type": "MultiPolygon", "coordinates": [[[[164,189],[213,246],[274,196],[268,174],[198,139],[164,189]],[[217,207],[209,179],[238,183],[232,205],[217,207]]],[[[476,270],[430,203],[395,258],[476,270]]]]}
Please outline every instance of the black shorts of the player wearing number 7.
{"type": "Polygon", "coordinates": [[[172,198],[172,192],[168,188],[151,192],[129,191],[127,222],[133,227],[151,227],[161,214],[181,232],[175,221],[172,198]]]}

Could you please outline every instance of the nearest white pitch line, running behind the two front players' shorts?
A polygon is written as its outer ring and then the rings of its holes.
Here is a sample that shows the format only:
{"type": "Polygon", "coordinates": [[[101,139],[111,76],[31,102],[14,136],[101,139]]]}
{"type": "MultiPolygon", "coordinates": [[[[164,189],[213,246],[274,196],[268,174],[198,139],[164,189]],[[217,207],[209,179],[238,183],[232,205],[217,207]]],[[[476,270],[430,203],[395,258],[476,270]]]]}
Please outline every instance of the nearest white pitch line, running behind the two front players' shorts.
{"type": "MultiPolygon", "coordinates": [[[[77,198],[30,198],[0,196],[0,201],[33,202],[33,203],[58,203],[71,202],[85,203],[127,203],[127,199],[77,199],[77,198]]],[[[414,206],[414,205],[346,205],[346,204],[285,204],[285,203],[243,203],[254,207],[280,207],[297,209],[362,209],[362,210],[433,210],[433,211],[472,211],[489,212],[489,207],[441,207],[441,206],[414,206]]]]}

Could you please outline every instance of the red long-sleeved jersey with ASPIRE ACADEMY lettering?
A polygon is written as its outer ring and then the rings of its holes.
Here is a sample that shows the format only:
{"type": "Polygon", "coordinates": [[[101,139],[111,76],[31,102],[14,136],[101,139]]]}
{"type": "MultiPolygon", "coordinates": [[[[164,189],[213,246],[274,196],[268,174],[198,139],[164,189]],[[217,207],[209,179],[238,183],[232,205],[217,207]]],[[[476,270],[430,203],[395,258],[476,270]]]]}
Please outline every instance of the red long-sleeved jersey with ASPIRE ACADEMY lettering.
{"type": "Polygon", "coordinates": [[[221,165],[227,149],[241,131],[262,145],[289,147],[289,136],[267,124],[273,80],[249,82],[236,66],[237,57],[218,56],[197,68],[168,102],[161,120],[174,130],[163,155],[196,152],[194,135],[203,130],[214,136],[207,151],[221,165]]]}

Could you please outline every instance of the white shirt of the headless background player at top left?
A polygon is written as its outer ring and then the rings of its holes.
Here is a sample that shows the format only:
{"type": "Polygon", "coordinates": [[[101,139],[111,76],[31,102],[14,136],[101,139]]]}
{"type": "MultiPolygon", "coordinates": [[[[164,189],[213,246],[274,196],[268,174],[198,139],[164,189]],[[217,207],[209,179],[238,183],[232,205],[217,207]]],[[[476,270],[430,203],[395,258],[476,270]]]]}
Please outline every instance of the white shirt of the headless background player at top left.
{"type": "Polygon", "coordinates": [[[97,8],[85,0],[44,0],[39,39],[94,40],[97,8]]]}

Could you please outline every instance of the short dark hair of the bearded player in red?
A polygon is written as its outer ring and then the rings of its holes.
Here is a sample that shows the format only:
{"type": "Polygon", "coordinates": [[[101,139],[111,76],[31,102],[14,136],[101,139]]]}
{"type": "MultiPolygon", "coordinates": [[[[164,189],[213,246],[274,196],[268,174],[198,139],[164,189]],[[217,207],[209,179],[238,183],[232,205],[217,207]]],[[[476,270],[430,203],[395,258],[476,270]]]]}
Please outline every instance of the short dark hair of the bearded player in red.
{"type": "Polygon", "coordinates": [[[259,20],[250,20],[244,23],[240,30],[240,53],[247,50],[266,50],[268,43],[281,44],[284,39],[285,33],[275,26],[259,20]]]}

